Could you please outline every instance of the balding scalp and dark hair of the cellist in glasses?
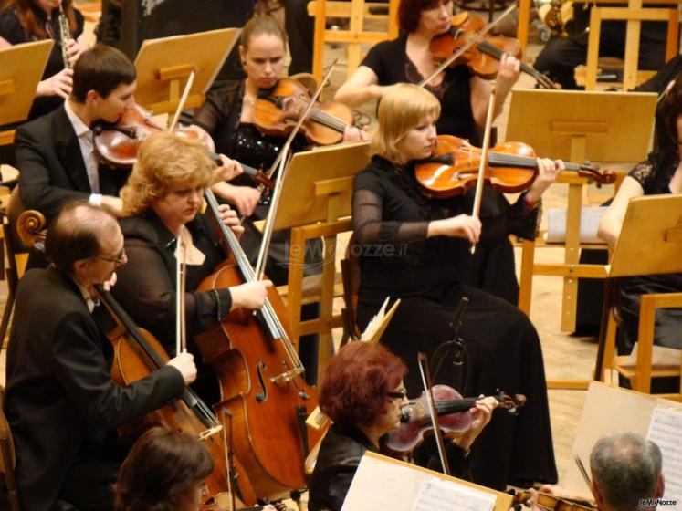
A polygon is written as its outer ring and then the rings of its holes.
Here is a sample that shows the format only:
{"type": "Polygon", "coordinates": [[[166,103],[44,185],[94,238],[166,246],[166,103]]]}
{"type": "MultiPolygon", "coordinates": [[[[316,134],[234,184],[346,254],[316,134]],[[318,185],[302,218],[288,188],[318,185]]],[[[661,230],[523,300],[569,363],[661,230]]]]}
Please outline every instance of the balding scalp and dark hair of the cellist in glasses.
{"type": "Polygon", "coordinates": [[[59,269],[73,275],[74,264],[101,255],[102,245],[121,235],[116,218],[85,201],[67,203],[47,229],[45,254],[59,269]]]}

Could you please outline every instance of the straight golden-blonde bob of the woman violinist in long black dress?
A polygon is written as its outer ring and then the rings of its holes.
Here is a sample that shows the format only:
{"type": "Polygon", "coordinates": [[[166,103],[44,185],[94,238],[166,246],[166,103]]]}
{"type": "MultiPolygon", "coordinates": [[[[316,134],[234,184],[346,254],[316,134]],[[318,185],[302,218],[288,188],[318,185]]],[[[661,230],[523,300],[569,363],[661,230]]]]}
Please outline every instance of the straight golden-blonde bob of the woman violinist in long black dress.
{"type": "Polygon", "coordinates": [[[379,103],[379,129],[370,144],[372,155],[398,162],[398,142],[427,116],[440,116],[440,102],[433,94],[412,83],[393,85],[379,103]]]}

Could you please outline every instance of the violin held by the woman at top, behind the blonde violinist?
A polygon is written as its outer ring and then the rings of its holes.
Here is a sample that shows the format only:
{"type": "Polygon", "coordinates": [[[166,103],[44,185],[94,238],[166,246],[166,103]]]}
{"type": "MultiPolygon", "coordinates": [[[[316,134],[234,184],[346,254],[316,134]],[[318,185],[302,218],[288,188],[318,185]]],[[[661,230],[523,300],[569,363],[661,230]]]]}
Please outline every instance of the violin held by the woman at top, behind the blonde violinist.
{"type": "MultiPolygon", "coordinates": [[[[431,40],[429,49],[431,54],[440,60],[450,57],[458,49],[477,35],[486,26],[481,16],[473,13],[459,13],[453,18],[453,26],[445,34],[435,36],[431,40]]],[[[506,53],[513,57],[523,57],[519,39],[505,36],[489,36],[486,34],[476,44],[467,50],[451,64],[452,66],[466,65],[480,78],[492,79],[498,76],[499,60],[506,53]]],[[[557,89],[558,86],[537,69],[520,63],[520,69],[530,75],[545,89],[557,89]]]]}

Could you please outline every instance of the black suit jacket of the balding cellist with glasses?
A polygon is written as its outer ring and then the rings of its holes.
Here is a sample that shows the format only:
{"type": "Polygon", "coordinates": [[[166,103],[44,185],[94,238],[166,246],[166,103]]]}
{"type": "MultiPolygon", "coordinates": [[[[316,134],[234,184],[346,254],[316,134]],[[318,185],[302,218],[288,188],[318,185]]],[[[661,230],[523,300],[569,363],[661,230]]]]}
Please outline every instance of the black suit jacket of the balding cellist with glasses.
{"type": "Polygon", "coordinates": [[[50,267],[21,279],[7,348],[6,412],[22,509],[49,509],[92,439],[184,390],[182,375],[170,366],[117,385],[102,353],[108,342],[69,276],[50,267]]]}

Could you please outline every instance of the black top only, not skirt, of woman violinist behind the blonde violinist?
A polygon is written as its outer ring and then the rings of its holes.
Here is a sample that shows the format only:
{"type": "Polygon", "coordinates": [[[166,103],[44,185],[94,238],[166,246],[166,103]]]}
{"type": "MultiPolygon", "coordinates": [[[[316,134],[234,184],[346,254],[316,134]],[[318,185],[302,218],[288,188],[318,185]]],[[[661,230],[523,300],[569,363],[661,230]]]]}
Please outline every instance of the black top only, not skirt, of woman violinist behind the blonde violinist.
{"type": "MultiPolygon", "coordinates": [[[[372,47],[361,66],[372,69],[379,85],[419,83],[422,78],[414,63],[407,57],[407,34],[393,41],[383,41],[372,47]]],[[[446,70],[443,82],[428,87],[441,103],[441,116],[436,123],[438,133],[455,135],[479,145],[474,112],[471,110],[471,73],[467,66],[446,70]]]]}

